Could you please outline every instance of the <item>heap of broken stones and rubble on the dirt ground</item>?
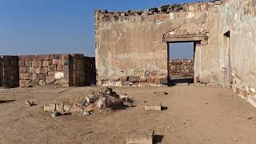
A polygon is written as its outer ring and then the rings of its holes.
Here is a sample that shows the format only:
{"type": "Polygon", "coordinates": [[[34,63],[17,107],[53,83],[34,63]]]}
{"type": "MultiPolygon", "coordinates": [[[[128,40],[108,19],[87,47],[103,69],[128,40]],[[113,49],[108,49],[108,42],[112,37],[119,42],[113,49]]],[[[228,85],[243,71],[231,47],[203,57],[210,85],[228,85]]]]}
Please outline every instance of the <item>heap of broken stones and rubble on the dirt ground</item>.
{"type": "Polygon", "coordinates": [[[108,87],[90,92],[81,102],[58,102],[43,107],[45,112],[51,112],[52,117],[62,114],[83,113],[90,115],[108,112],[132,106],[131,100],[126,95],[118,95],[108,87]]]}

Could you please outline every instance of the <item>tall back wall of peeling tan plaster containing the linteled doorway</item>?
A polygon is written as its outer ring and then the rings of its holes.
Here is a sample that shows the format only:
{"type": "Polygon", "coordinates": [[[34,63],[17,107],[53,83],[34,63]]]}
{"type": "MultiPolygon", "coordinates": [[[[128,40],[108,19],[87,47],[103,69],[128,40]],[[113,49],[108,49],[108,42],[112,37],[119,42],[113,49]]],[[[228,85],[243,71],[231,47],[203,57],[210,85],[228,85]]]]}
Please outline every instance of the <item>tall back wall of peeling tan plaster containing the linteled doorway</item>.
{"type": "Polygon", "coordinates": [[[197,41],[195,77],[198,82],[218,82],[218,63],[214,59],[204,63],[203,58],[218,55],[215,46],[208,45],[211,39],[214,41],[211,36],[217,29],[208,26],[217,21],[215,17],[208,18],[208,10],[221,3],[197,2],[144,11],[95,11],[98,86],[166,84],[166,42],[172,40],[197,41]]]}

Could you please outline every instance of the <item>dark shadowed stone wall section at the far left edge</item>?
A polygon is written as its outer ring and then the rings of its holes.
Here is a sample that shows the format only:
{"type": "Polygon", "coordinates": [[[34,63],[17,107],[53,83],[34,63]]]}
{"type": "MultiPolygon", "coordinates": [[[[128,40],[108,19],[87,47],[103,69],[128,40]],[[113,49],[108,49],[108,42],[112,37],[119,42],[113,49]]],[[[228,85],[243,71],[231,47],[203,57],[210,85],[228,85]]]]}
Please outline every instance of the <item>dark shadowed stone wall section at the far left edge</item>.
{"type": "Polygon", "coordinates": [[[0,86],[18,86],[18,56],[0,56],[0,86]]]}

